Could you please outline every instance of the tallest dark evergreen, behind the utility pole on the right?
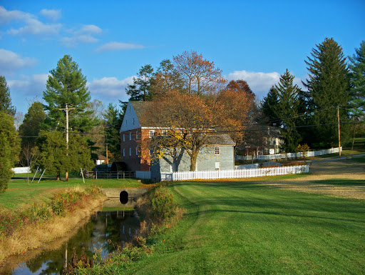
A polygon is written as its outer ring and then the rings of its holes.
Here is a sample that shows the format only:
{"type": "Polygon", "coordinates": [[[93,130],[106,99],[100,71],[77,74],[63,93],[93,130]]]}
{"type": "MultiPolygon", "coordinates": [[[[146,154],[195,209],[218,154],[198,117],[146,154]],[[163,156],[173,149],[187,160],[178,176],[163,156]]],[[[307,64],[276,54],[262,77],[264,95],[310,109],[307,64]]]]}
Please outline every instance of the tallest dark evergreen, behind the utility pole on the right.
{"type": "MultiPolygon", "coordinates": [[[[340,120],[348,120],[349,69],[342,48],[334,39],[324,39],[322,44],[312,49],[312,58],[307,57],[309,79],[303,82],[308,89],[309,112],[313,114],[312,124],[318,125],[313,130],[309,144],[327,144],[331,146],[338,141],[336,108],[340,106],[340,120]]],[[[341,139],[348,136],[349,127],[341,125],[341,139]]]]}

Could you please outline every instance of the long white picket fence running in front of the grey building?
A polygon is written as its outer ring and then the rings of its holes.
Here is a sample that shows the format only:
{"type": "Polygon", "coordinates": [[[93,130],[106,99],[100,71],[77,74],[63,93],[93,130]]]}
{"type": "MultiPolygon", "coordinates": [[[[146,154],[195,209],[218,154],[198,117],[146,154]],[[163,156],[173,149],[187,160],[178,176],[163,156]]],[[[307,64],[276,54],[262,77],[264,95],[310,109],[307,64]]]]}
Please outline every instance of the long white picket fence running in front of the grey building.
{"type": "Polygon", "coordinates": [[[269,167],[258,169],[222,170],[222,171],[185,171],[161,173],[161,181],[186,181],[190,179],[237,179],[257,176],[278,176],[308,173],[308,165],[269,167]]]}

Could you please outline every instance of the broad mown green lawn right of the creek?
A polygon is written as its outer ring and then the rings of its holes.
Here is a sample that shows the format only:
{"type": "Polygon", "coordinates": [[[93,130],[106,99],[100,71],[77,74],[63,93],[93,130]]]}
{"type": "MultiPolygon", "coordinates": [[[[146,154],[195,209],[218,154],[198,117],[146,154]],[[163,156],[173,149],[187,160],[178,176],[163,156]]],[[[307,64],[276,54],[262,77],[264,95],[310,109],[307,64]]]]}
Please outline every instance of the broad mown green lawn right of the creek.
{"type": "Polygon", "coordinates": [[[259,181],[169,188],[185,218],[125,274],[364,274],[365,201],[259,181]]]}

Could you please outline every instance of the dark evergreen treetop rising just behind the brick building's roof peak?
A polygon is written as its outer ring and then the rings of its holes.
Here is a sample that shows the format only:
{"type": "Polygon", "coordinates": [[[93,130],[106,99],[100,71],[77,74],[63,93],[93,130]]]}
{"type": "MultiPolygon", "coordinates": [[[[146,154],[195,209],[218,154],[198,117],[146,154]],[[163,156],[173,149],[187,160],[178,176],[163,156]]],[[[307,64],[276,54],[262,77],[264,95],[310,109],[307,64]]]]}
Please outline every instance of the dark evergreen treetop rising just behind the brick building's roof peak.
{"type": "Polygon", "coordinates": [[[150,101],[152,99],[151,84],[153,83],[153,67],[150,64],[142,66],[133,84],[125,88],[130,101],[150,101]]]}

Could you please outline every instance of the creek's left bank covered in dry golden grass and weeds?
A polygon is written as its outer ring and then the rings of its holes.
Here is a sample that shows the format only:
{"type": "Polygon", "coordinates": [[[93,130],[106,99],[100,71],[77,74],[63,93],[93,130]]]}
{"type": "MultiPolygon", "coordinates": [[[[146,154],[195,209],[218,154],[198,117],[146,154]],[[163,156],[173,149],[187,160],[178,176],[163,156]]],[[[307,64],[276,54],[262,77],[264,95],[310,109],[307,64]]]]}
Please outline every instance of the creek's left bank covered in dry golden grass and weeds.
{"type": "Polygon", "coordinates": [[[85,193],[78,196],[78,199],[71,193],[68,195],[70,203],[57,194],[51,203],[29,206],[29,209],[18,211],[16,214],[2,210],[2,222],[6,231],[1,232],[0,236],[0,265],[11,255],[26,254],[26,251],[37,249],[65,236],[106,200],[100,189],[80,189],[78,192],[85,193]],[[29,213],[36,214],[36,218],[30,219],[29,213]],[[44,219],[42,215],[45,216],[44,219]],[[24,217],[31,222],[25,222],[24,217]],[[4,219],[9,219],[8,224],[4,223],[4,219]],[[24,226],[19,226],[19,223],[23,223],[24,226]],[[14,230],[11,230],[13,227],[14,230]]]}

